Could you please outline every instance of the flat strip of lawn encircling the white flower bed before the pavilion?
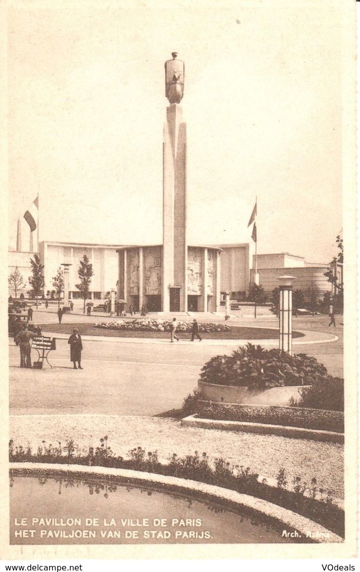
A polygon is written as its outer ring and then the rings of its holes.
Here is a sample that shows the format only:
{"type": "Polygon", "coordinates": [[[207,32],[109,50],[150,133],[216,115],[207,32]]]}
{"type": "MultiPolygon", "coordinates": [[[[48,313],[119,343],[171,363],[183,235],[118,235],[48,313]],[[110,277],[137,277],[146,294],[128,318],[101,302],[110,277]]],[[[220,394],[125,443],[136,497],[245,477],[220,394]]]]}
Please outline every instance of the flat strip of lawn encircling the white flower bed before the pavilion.
{"type": "MultiPolygon", "coordinates": [[[[136,332],[118,329],[95,328],[94,324],[41,324],[43,332],[73,333],[77,328],[82,336],[104,337],[147,337],[170,338],[170,332],[136,332]]],[[[191,333],[177,332],[180,339],[191,339],[191,333]]],[[[293,337],[302,337],[303,333],[293,332],[293,337]]],[[[230,326],[229,332],[201,333],[201,337],[208,340],[273,340],[278,338],[277,329],[270,328],[242,328],[230,326]]]]}

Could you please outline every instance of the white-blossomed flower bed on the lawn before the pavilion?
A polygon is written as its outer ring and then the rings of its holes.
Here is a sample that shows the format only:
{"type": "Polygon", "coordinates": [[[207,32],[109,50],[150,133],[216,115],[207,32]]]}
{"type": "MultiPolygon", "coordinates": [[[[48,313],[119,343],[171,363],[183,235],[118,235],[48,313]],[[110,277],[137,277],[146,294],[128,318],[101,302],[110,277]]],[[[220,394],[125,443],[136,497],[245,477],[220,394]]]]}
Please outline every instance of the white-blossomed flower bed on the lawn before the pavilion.
{"type": "MultiPolygon", "coordinates": [[[[135,332],[170,332],[171,320],[118,320],[102,321],[95,324],[96,328],[119,329],[135,332]]],[[[187,321],[177,322],[177,332],[189,332],[193,329],[193,323],[187,321]]],[[[199,322],[199,332],[230,332],[230,326],[226,324],[214,324],[213,322],[199,322]]]]}

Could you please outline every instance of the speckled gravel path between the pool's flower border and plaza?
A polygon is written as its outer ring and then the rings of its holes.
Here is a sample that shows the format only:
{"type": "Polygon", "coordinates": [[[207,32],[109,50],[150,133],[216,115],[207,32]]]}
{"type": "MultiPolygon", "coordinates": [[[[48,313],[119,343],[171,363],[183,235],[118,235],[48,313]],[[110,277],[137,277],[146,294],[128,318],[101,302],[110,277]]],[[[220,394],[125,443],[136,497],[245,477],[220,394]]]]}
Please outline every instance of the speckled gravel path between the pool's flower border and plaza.
{"type": "Polygon", "coordinates": [[[10,416],[10,438],[15,445],[36,451],[42,440],[53,446],[74,439],[79,451],[98,446],[107,435],[115,455],[127,456],[134,447],[158,451],[159,460],[206,451],[233,464],[249,466],[266,478],[276,478],[285,467],[291,486],[294,476],[307,483],[315,476],[318,487],[343,498],[343,446],[274,435],[255,435],[182,427],[178,420],[115,415],[20,415],[10,416]],[[61,427],[61,430],[59,429],[61,427]]]}

